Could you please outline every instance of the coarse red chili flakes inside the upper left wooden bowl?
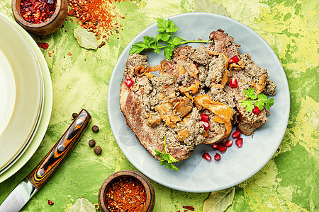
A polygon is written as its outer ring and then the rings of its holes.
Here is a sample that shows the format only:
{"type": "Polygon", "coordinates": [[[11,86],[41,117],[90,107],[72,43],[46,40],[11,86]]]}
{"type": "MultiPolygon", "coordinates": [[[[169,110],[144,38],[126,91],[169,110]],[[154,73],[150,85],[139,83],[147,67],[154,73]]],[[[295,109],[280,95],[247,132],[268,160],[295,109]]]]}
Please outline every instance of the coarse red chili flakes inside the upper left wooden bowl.
{"type": "Polygon", "coordinates": [[[57,0],[21,0],[20,13],[30,23],[47,21],[57,7],[57,0]]]}

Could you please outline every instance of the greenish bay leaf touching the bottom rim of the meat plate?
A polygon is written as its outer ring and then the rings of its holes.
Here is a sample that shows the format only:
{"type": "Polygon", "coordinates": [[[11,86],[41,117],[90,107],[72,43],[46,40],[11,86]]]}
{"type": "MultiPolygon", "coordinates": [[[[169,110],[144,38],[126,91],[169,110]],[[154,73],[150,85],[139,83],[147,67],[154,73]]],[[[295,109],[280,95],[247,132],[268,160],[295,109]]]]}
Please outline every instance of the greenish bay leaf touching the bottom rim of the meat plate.
{"type": "Polygon", "coordinates": [[[204,201],[203,212],[221,212],[233,204],[235,187],[218,192],[211,192],[204,201]]]}

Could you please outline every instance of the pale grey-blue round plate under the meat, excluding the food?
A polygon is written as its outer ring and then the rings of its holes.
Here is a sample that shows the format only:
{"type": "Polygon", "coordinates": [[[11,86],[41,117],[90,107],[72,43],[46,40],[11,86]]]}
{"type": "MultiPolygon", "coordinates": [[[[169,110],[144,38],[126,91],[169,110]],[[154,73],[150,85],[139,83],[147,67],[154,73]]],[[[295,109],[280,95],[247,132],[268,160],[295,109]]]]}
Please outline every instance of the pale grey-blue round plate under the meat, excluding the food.
{"type": "MultiPolygon", "coordinates": [[[[270,80],[277,84],[274,106],[270,109],[269,122],[255,131],[254,138],[243,136],[242,148],[235,144],[221,155],[220,161],[201,157],[203,152],[215,151],[209,145],[200,145],[186,160],[176,163],[179,171],[161,167],[135,138],[120,110],[119,93],[123,71],[130,47],[145,35],[157,34],[157,23],[138,34],[123,50],[113,69],[108,86],[108,119],[118,146],[130,163],[150,179],[166,187],[184,192],[212,192],[232,187],[252,177],[272,158],[285,134],[289,119],[289,87],[281,63],[265,40],[246,25],[213,13],[184,13],[169,17],[179,28],[176,35],[187,40],[208,40],[208,35],[219,28],[233,36],[241,45],[240,52],[251,55],[254,62],[268,69],[270,80]]],[[[198,45],[192,45],[198,47],[198,45]]],[[[147,52],[150,65],[159,64],[162,54],[147,52]]]]}

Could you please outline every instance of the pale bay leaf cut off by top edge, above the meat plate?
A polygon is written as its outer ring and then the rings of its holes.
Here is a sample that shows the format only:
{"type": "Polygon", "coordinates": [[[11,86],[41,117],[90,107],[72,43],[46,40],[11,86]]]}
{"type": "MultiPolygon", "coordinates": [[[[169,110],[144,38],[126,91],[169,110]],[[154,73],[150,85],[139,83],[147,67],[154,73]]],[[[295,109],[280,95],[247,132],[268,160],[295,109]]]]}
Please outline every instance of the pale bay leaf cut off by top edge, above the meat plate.
{"type": "Polygon", "coordinates": [[[222,16],[230,17],[230,13],[225,6],[211,0],[194,0],[195,12],[216,13],[222,16]]]}

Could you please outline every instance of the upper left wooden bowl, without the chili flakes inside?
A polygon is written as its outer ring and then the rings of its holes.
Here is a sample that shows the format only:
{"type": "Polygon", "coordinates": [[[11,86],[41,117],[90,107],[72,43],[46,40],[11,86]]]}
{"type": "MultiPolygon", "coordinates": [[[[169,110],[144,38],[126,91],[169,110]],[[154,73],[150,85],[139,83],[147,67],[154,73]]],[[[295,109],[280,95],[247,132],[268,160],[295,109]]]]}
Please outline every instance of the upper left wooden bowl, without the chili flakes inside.
{"type": "Polygon", "coordinates": [[[48,35],[55,32],[67,18],[67,0],[57,0],[57,6],[53,15],[43,23],[30,23],[23,19],[20,13],[21,0],[12,0],[11,6],[16,22],[28,33],[33,35],[48,35]]]}

